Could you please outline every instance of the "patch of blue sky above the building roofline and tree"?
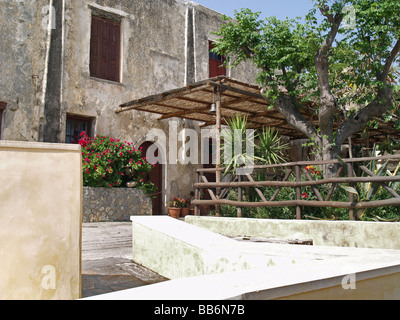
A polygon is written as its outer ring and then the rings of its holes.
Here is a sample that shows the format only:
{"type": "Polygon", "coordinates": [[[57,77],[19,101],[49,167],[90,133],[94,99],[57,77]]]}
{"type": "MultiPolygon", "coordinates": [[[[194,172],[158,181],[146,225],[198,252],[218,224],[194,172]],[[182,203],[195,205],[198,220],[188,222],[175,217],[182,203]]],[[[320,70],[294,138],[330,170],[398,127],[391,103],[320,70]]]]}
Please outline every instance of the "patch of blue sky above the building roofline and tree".
{"type": "Polygon", "coordinates": [[[276,16],[304,17],[313,7],[311,0],[195,0],[205,7],[233,17],[235,9],[249,8],[254,12],[261,11],[262,17],[276,16]]]}

